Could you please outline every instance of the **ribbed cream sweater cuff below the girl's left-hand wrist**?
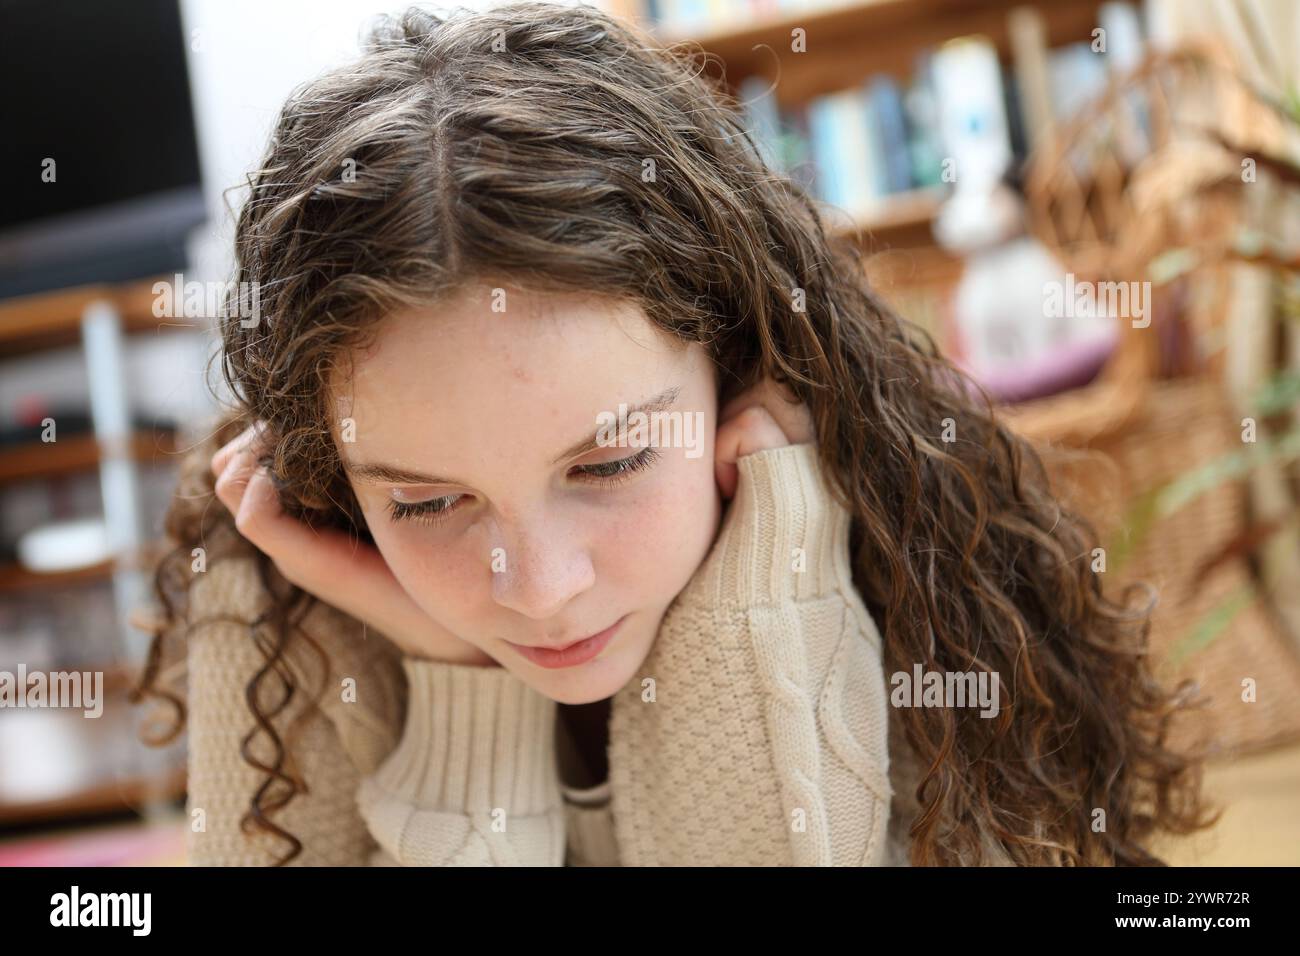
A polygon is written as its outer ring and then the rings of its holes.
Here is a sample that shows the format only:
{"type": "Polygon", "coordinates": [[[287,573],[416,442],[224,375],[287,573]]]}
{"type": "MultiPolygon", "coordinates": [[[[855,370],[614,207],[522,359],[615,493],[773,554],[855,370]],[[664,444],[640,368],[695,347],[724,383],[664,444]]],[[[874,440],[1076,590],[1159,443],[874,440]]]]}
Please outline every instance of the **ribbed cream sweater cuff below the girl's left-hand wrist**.
{"type": "Polygon", "coordinates": [[[402,740],[358,790],[403,866],[562,866],[556,704],[504,667],[406,657],[402,740]]]}

